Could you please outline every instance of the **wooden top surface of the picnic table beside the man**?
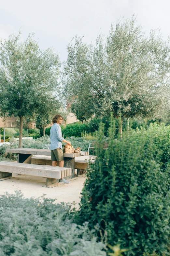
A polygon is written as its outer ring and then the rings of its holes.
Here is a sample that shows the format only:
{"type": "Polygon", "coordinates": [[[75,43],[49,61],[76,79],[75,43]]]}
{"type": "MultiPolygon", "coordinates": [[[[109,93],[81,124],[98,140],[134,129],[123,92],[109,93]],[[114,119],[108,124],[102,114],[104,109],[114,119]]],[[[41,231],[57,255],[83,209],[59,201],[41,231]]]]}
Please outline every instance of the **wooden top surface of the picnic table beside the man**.
{"type": "MultiPolygon", "coordinates": [[[[30,154],[30,155],[43,155],[50,156],[50,149],[40,149],[40,148],[8,148],[6,149],[7,153],[16,153],[16,154],[30,154]]],[[[75,158],[74,153],[64,153],[64,157],[75,158]]]]}

